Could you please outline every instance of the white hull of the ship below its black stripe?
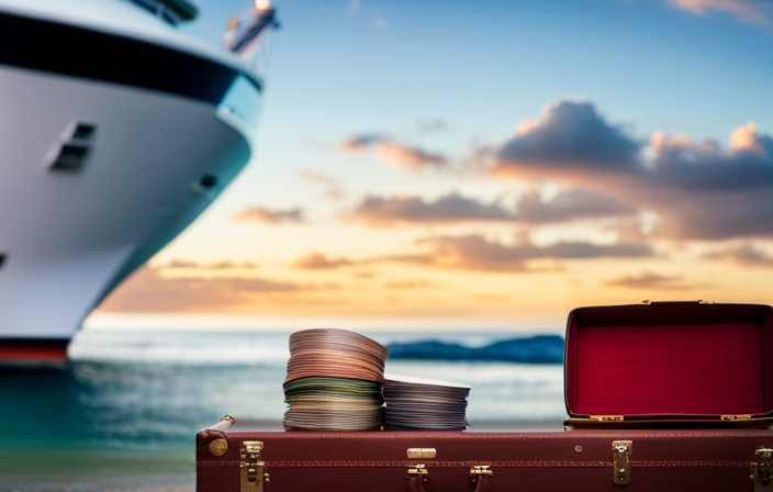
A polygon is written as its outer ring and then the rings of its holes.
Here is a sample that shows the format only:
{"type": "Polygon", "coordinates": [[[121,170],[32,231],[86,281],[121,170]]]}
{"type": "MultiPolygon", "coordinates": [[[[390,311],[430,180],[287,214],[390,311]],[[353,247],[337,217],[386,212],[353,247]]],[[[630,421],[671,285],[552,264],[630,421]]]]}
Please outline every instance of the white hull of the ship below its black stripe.
{"type": "Polygon", "coordinates": [[[0,54],[0,339],[69,339],[238,174],[248,122],[205,99],[0,54]],[[71,143],[86,157],[57,167],[71,143]]]}

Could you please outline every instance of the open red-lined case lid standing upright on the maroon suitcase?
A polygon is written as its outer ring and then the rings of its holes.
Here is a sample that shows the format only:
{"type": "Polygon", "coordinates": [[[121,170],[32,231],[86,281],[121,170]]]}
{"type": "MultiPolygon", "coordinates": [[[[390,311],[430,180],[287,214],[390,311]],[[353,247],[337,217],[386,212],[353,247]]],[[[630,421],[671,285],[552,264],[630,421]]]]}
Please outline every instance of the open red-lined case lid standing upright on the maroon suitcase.
{"type": "Polygon", "coordinates": [[[575,309],[564,398],[570,422],[773,416],[773,309],[703,301],[575,309]]]}

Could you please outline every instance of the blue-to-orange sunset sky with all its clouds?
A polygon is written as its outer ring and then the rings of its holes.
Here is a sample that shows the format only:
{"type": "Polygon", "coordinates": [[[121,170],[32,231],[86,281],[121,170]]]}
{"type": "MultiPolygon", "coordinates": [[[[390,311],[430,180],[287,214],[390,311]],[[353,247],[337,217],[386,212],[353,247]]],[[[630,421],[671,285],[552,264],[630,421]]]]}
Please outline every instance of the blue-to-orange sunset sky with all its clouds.
{"type": "MultiPolygon", "coordinates": [[[[198,3],[184,30],[215,45],[250,5],[198,3]]],[[[773,3],[275,5],[251,163],[96,317],[535,331],[773,303],[773,3]]]]}

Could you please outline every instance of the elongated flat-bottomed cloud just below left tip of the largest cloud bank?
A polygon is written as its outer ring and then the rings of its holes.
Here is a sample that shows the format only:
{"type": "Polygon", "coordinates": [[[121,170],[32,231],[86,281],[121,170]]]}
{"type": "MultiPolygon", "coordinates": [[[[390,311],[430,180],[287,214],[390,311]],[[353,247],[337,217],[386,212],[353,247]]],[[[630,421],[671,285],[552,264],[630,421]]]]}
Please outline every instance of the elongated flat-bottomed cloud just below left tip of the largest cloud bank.
{"type": "Polygon", "coordinates": [[[442,223],[466,221],[512,221],[512,211],[496,203],[484,204],[451,192],[434,201],[417,197],[379,198],[367,195],[348,217],[369,225],[399,223],[442,223]]]}

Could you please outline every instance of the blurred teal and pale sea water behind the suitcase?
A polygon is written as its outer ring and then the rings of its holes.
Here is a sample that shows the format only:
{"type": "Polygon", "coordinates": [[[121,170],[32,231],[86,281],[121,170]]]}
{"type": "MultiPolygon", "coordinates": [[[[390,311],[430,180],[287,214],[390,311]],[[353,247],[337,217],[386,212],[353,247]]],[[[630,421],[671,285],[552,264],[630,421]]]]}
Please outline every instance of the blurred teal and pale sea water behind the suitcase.
{"type": "MultiPolygon", "coordinates": [[[[482,347],[511,334],[369,333],[482,347]]],[[[0,371],[0,491],[192,491],[194,436],[231,414],[281,428],[289,333],[83,329],[60,369],[0,371]]],[[[565,417],[562,366],[394,359],[473,387],[471,428],[565,417]]]]}

